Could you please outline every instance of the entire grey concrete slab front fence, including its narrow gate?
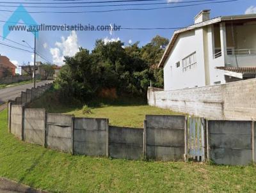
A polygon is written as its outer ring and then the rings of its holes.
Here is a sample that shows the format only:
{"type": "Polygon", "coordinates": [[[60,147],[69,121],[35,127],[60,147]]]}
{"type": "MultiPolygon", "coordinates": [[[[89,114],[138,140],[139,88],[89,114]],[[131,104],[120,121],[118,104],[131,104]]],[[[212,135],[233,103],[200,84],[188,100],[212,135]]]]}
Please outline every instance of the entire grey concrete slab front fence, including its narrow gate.
{"type": "MultiPolygon", "coordinates": [[[[27,92],[27,102],[38,93],[42,94],[42,88],[27,92]]],[[[254,121],[146,115],[143,128],[127,128],[109,125],[106,118],[29,109],[15,100],[8,102],[8,123],[9,131],[22,141],[75,155],[164,161],[190,158],[228,165],[246,165],[256,158],[254,121]]]]}

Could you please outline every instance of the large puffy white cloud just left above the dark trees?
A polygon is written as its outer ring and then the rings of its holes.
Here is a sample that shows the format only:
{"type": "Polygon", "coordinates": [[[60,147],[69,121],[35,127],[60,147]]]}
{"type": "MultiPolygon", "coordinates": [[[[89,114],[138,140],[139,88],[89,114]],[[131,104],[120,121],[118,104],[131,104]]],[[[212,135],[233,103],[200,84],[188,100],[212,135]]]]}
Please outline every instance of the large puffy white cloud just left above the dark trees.
{"type": "Polygon", "coordinates": [[[67,38],[61,37],[61,42],[55,43],[56,47],[51,48],[52,61],[63,65],[64,56],[74,56],[79,50],[76,31],[72,31],[67,38]]]}

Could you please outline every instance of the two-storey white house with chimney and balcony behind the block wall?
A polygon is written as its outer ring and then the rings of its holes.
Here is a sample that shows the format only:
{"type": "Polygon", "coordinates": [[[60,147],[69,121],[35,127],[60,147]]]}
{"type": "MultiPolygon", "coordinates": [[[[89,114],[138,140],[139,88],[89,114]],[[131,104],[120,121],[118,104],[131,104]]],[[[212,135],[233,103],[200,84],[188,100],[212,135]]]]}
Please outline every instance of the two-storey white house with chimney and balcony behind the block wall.
{"type": "Polygon", "coordinates": [[[210,19],[203,10],[173,33],[158,67],[166,91],[255,78],[256,14],[210,19]]]}

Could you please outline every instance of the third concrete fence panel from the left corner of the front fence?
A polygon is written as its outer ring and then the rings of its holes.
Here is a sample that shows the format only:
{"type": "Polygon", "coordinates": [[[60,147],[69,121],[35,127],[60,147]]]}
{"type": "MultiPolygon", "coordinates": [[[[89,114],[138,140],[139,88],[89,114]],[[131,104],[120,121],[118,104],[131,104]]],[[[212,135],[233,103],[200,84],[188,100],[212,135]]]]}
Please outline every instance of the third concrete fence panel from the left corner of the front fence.
{"type": "Polygon", "coordinates": [[[73,121],[71,115],[47,114],[47,147],[73,153],[73,121]]]}

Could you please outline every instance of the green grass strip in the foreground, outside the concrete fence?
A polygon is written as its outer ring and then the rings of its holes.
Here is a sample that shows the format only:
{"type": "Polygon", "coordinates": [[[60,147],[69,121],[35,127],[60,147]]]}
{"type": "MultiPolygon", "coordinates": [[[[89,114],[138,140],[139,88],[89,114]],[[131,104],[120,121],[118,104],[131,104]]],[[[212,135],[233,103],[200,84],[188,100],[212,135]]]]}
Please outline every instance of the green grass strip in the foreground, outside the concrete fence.
{"type": "Polygon", "coordinates": [[[0,176],[50,192],[256,192],[255,166],[72,156],[24,143],[0,112],[0,176]]]}

